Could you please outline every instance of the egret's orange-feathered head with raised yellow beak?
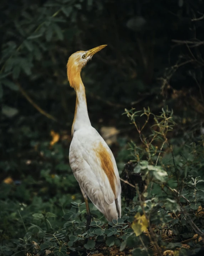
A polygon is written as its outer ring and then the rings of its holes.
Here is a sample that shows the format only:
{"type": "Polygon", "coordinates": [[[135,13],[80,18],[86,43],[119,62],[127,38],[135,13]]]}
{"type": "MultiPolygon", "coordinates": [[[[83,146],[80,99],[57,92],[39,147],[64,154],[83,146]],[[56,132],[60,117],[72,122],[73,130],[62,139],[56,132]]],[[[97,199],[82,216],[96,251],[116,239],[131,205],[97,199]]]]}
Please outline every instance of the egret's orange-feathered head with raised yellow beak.
{"type": "Polygon", "coordinates": [[[81,69],[93,57],[93,55],[106,47],[107,44],[100,45],[91,50],[78,51],[73,53],[67,62],[67,77],[71,87],[75,87],[80,78],[81,69]]]}

